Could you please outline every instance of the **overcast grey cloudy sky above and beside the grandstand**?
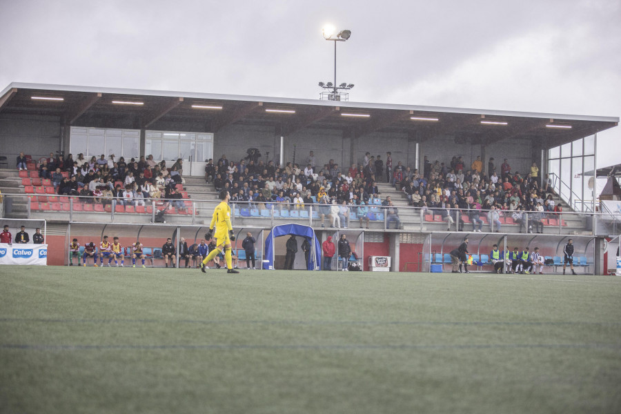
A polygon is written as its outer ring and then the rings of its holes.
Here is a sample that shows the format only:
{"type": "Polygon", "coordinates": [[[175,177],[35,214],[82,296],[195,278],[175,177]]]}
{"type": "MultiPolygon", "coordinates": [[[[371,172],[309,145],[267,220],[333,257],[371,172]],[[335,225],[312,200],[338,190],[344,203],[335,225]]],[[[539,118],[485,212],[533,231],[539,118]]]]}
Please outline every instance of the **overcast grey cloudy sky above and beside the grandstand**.
{"type": "MultiPolygon", "coordinates": [[[[12,81],[621,115],[621,0],[0,0],[12,81]]],[[[621,127],[598,166],[621,162],[621,127]],[[611,148],[614,150],[611,151],[611,148]]]]}

